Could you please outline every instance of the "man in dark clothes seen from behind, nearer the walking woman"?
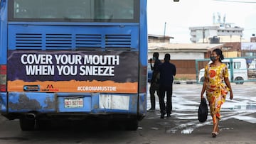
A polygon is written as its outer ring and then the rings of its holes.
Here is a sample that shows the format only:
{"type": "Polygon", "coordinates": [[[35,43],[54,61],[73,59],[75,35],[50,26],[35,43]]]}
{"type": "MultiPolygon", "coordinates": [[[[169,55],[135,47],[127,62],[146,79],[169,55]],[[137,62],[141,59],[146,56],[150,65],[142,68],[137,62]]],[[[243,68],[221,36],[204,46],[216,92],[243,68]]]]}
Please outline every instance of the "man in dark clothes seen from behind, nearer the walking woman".
{"type": "Polygon", "coordinates": [[[176,66],[170,62],[171,55],[166,53],[164,55],[164,63],[159,65],[158,72],[160,73],[160,82],[159,82],[159,104],[161,117],[164,118],[164,115],[167,113],[167,117],[171,116],[172,111],[172,89],[174,76],[176,75],[176,66]],[[166,104],[164,103],[164,97],[166,93],[166,104]]]}

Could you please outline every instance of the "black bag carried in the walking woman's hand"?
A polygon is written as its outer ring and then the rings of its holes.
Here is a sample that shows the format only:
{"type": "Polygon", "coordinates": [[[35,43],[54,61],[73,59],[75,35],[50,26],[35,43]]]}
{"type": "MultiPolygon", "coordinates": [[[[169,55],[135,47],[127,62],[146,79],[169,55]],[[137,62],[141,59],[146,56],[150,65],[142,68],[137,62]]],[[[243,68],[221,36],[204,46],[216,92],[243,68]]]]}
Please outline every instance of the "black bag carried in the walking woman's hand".
{"type": "Polygon", "coordinates": [[[206,99],[201,99],[201,103],[198,108],[198,120],[203,123],[207,120],[208,116],[208,106],[206,104],[206,99]]]}

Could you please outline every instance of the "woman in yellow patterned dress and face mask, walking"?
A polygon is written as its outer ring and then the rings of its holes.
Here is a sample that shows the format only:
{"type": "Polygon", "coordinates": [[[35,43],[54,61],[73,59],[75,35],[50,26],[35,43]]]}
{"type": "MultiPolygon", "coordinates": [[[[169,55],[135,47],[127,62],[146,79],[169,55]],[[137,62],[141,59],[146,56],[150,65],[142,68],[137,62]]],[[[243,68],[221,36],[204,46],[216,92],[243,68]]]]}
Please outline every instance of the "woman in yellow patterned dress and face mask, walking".
{"type": "Polygon", "coordinates": [[[201,99],[203,99],[203,94],[206,91],[206,98],[209,102],[210,116],[213,118],[213,138],[219,133],[220,107],[225,102],[228,91],[230,92],[230,99],[233,99],[233,92],[228,80],[228,67],[221,62],[223,59],[223,53],[220,49],[217,48],[211,52],[210,60],[212,63],[205,67],[205,79],[201,91],[201,99]]]}

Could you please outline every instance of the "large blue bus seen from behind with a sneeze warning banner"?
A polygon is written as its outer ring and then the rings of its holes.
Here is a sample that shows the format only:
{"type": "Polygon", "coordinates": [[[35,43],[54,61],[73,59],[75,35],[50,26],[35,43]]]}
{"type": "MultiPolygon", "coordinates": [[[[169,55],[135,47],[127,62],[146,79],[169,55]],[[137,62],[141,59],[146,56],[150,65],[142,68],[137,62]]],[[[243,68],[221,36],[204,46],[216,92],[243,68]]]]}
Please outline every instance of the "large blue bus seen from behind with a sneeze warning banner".
{"type": "Polygon", "coordinates": [[[1,0],[0,111],[22,131],[146,116],[146,0],[1,0]]]}

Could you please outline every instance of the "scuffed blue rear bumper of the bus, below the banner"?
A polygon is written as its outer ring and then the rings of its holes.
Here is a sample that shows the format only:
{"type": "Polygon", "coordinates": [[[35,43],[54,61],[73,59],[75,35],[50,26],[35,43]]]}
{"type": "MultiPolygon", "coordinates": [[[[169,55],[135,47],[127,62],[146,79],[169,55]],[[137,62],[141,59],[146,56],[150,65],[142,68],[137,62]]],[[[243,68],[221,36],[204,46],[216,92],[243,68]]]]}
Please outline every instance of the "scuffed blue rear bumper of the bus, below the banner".
{"type": "Polygon", "coordinates": [[[0,112],[7,118],[36,113],[48,116],[146,115],[146,94],[0,93],[0,112]],[[82,106],[67,107],[65,99],[80,98],[82,106]],[[139,101],[138,101],[139,100],[139,101]],[[141,106],[139,106],[141,104],[141,106]]]}

